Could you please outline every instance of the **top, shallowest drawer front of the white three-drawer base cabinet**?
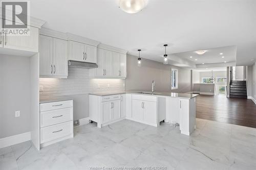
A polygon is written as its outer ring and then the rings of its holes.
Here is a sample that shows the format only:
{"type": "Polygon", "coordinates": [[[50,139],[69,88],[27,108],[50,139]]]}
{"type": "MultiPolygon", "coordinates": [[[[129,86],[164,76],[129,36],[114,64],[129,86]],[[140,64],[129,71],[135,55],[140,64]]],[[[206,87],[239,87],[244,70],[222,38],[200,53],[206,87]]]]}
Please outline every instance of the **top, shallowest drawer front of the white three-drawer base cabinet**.
{"type": "Polygon", "coordinates": [[[40,112],[73,107],[73,100],[40,104],[40,112]]]}

